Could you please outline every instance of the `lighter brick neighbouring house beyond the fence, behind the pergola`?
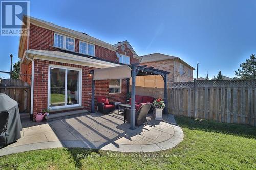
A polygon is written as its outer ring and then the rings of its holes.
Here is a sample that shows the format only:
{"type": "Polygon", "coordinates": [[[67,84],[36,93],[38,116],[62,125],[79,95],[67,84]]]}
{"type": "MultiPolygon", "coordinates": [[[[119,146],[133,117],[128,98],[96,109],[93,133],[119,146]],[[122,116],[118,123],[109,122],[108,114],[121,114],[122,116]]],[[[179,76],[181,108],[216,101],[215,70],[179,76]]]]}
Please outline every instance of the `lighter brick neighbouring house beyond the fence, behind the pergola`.
{"type": "Polygon", "coordinates": [[[193,68],[179,57],[169,56],[161,53],[153,53],[144,56],[141,65],[152,66],[170,72],[167,82],[192,82],[193,68]]]}

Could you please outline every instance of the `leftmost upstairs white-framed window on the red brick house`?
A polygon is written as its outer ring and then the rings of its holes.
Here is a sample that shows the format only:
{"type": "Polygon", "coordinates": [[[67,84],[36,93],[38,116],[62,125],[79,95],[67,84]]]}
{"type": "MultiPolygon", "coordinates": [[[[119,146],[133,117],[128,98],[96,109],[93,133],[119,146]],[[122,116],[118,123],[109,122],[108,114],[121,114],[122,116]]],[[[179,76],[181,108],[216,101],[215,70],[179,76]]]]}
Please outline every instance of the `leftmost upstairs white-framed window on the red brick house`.
{"type": "Polygon", "coordinates": [[[54,46],[74,51],[75,39],[60,34],[54,34],[54,46]]]}

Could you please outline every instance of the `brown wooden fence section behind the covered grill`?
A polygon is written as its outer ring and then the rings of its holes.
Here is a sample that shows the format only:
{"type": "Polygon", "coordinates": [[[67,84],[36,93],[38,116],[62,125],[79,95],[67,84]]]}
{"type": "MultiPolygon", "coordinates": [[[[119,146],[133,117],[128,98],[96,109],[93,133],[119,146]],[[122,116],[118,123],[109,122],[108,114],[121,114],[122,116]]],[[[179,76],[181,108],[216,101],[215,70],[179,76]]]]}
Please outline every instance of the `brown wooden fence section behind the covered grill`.
{"type": "Polygon", "coordinates": [[[4,93],[18,102],[20,112],[30,112],[31,88],[27,82],[19,79],[3,79],[0,93],[4,93]]]}

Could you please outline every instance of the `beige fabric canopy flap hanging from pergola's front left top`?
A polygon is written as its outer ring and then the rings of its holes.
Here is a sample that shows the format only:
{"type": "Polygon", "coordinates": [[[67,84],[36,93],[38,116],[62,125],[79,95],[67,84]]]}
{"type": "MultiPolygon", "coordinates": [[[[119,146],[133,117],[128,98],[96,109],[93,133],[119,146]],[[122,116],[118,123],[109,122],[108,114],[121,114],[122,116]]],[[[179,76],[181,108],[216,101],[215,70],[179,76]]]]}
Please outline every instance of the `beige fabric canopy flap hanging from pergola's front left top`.
{"type": "Polygon", "coordinates": [[[126,79],[131,78],[131,68],[127,65],[95,69],[93,80],[126,79]]]}

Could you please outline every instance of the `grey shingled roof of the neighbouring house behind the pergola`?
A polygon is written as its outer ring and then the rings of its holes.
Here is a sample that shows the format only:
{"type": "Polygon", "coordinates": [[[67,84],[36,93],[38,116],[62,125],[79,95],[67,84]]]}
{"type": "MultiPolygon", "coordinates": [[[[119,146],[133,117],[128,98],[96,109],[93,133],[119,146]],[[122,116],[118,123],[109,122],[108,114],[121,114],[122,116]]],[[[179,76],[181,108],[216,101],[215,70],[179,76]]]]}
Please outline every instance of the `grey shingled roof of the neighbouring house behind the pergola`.
{"type": "Polygon", "coordinates": [[[148,63],[148,62],[155,62],[155,61],[163,61],[163,60],[175,59],[175,60],[179,60],[181,63],[187,65],[191,69],[195,70],[194,67],[190,66],[185,61],[183,61],[179,57],[175,57],[175,56],[170,56],[170,55],[161,54],[161,53],[153,53],[153,54],[148,54],[148,55],[144,55],[144,56],[140,56],[140,57],[142,58],[141,63],[148,63]]]}

